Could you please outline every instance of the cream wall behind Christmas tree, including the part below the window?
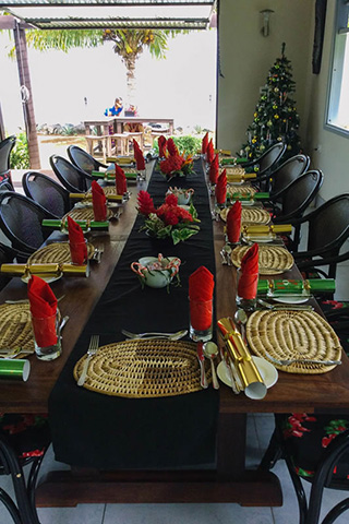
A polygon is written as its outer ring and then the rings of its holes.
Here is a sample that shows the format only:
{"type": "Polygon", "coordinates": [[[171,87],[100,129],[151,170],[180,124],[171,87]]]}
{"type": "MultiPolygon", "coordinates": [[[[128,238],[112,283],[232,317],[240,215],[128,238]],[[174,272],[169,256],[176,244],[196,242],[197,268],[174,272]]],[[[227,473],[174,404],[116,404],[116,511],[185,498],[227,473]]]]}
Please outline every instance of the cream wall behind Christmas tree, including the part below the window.
{"type": "Polygon", "coordinates": [[[218,81],[217,145],[240,150],[253,120],[260,87],[286,43],[291,60],[302,146],[324,172],[320,195],[349,192],[349,139],[325,129],[336,0],[328,0],[321,73],[312,73],[315,0],[220,0],[221,71],[218,81]],[[273,9],[270,35],[263,37],[262,9],[273,9]],[[320,146],[320,147],[318,147],[320,146]]]}

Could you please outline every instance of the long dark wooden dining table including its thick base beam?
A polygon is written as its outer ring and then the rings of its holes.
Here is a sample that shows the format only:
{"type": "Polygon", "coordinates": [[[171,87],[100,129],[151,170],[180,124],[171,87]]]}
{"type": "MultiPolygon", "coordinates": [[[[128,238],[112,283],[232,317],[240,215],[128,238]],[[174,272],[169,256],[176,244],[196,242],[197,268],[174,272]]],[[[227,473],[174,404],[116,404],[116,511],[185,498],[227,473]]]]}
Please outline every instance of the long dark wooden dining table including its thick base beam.
{"type": "MultiPolygon", "coordinates": [[[[148,169],[149,169],[148,165],[148,169]]],[[[201,167],[202,169],[203,167],[201,167]]],[[[146,184],[139,182],[139,189],[146,184]]],[[[91,311],[98,302],[118,264],[136,217],[135,187],[118,222],[109,233],[92,237],[104,243],[100,264],[92,267],[88,278],[64,277],[55,283],[56,296],[63,297],[59,307],[70,321],[63,332],[60,358],[44,362],[31,357],[27,382],[0,380],[0,410],[8,413],[47,413],[49,395],[55,386],[91,311]]],[[[207,210],[208,212],[208,210],[207,210]]],[[[216,258],[216,315],[231,317],[236,311],[237,272],[222,265],[219,251],[225,242],[222,222],[213,222],[216,258]]],[[[53,234],[50,240],[57,238],[53,234]]],[[[286,278],[299,276],[297,267],[286,278]]],[[[0,303],[26,297],[26,286],[12,278],[0,293],[0,303]]],[[[316,303],[314,302],[315,307],[316,303]]],[[[219,413],[214,466],[174,471],[108,471],[72,467],[50,472],[37,488],[38,507],[69,507],[92,502],[238,502],[242,505],[281,505],[279,480],[272,472],[246,469],[246,417],[251,413],[334,413],[349,412],[349,360],[323,374],[279,372],[278,382],[260,401],[244,394],[233,395],[220,384],[219,413]]],[[[203,421],[203,424],[205,424],[203,421]]],[[[88,436],[86,436],[88,438],[88,436]]]]}

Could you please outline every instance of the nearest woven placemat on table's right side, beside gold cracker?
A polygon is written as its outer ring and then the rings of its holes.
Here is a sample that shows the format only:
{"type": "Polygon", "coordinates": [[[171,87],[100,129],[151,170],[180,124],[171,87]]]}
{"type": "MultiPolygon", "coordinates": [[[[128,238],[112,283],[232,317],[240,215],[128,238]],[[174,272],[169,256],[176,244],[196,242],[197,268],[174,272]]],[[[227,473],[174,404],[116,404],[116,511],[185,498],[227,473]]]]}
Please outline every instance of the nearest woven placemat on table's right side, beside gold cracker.
{"type": "Polygon", "coordinates": [[[268,355],[276,359],[340,360],[341,357],[338,336],[314,311],[255,311],[249,319],[246,336],[253,353],[288,373],[324,373],[335,366],[310,362],[282,366],[268,355]]]}

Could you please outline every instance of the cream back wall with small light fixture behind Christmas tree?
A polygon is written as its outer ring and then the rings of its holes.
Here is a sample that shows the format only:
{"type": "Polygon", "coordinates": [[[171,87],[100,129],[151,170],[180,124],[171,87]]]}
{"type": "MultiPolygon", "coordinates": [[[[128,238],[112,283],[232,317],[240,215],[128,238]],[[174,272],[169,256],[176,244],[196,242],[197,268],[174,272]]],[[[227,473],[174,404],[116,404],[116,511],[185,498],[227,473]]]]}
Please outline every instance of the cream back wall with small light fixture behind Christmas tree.
{"type": "Polygon", "coordinates": [[[291,61],[296,81],[296,106],[301,119],[300,134],[305,135],[306,76],[313,39],[313,0],[220,0],[220,62],[225,78],[218,81],[218,146],[239,151],[253,120],[260,87],[281,53],[291,61]],[[273,9],[270,34],[261,33],[260,11],[273,9]]]}

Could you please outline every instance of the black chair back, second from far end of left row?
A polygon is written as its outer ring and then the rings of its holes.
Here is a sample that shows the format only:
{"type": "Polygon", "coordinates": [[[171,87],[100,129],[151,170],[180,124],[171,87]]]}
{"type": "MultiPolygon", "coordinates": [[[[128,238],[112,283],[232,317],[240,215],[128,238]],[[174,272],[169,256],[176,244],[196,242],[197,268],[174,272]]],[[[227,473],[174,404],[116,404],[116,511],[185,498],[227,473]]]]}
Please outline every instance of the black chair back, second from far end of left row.
{"type": "Polygon", "coordinates": [[[71,193],[84,193],[91,188],[93,178],[62,156],[50,156],[51,168],[61,184],[71,193]]]}

